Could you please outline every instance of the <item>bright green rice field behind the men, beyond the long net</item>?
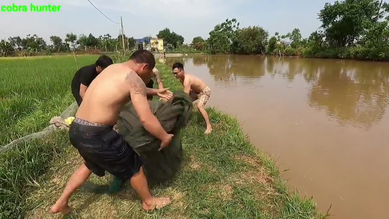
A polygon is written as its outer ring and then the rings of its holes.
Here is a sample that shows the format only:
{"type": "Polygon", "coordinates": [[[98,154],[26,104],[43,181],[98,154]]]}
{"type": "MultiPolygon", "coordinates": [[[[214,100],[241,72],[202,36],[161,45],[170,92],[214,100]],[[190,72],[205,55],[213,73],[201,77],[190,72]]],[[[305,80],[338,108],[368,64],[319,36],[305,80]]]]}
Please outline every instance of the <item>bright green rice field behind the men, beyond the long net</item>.
{"type": "MultiPolygon", "coordinates": [[[[77,56],[82,67],[98,55],[77,56]]],[[[73,56],[0,58],[0,145],[42,130],[73,101],[73,56]]]]}

